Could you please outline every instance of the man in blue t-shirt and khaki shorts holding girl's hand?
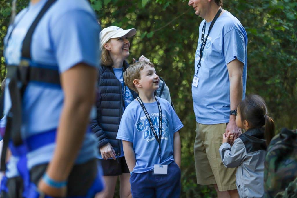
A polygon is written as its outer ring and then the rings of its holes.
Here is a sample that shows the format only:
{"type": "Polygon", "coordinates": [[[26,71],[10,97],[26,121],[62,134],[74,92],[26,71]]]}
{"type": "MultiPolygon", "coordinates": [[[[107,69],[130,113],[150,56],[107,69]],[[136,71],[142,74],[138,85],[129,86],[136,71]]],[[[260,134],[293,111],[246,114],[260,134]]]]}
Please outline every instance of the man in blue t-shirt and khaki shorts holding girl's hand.
{"type": "Polygon", "coordinates": [[[222,0],[189,0],[188,4],[204,19],[199,26],[192,83],[197,183],[214,185],[218,197],[238,197],[236,170],[224,167],[219,147],[225,132],[233,139],[241,133],[235,110],[245,97],[247,34],[239,20],[222,9],[222,0]]]}

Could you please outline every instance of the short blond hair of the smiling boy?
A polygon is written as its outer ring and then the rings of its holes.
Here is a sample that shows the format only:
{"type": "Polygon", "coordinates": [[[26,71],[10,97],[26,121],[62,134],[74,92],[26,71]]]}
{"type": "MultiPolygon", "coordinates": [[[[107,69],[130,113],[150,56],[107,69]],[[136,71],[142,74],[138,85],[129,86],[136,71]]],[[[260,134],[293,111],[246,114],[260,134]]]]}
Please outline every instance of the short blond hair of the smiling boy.
{"type": "Polygon", "coordinates": [[[138,93],[138,91],[133,81],[135,79],[140,80],[140,71],[143,70],[144,66],[155,67],[151,62],[141,61],[131,64],[124,72],[125,84],[136,93],[138,93]]]}

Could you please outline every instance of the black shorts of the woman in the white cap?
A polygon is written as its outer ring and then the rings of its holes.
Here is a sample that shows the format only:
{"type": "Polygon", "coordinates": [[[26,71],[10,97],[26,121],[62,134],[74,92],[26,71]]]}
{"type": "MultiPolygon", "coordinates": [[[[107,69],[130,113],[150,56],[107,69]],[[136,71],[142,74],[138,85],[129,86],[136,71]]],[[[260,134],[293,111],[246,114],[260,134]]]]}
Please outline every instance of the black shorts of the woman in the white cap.
{"type": "Polygon", "coordinates": [[[119,176],[123,173],[129,173],[125,157],[118,159],[98,159],[101,163],[104,176],[119,176]]]}

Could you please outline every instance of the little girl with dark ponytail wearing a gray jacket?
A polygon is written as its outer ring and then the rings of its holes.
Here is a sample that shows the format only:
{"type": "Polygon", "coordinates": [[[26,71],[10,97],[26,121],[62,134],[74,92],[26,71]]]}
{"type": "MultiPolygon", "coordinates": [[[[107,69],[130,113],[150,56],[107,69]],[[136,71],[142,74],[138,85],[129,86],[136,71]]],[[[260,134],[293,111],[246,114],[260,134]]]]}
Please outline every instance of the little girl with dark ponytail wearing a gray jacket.
{"type": "Polygon", "coordinates": [[[240,197],[263,197],[266,148],[274,136],[274,121],[262,97],[252,94],[238,104],[236,125],[246,132],[231,147],[233,137],[223,134],[219,148],[226,167],[237,167],[236,186],[240,197]]]}

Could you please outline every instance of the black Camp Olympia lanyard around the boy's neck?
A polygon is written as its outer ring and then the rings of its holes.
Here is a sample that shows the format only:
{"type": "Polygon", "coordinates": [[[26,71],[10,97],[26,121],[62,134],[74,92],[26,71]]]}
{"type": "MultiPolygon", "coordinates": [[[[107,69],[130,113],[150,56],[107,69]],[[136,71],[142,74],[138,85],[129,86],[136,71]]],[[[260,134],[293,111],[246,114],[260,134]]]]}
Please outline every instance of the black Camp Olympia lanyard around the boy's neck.
{"type": "Polygon", "coordinates": [[[144,114],[146,115],[146,118],[148,119],[149,121],[149,125],[151,127],[151,131],[153,132],[157,142],[159,143],[159,159],[160,159],[160,163],[161,163],[161,138],[162,138],[162,109],[161,109],[161,105],[160,105],[160,102],[159,100],[157,99],[157,97],[155,96],[155,99],[157,101],[157,104],[158,104],[158,108],[159,108],[159,137],[158,137],[158,134],[154,128],[154,125],[153,125],[153,121],[151,120],[151,117],[149,116],[149,113],[147,112],[146,110],[146,107],[144,106],[142,100],[140,99],[139,96],[137,96],[137,100],[144,112],[144,114]]]}

